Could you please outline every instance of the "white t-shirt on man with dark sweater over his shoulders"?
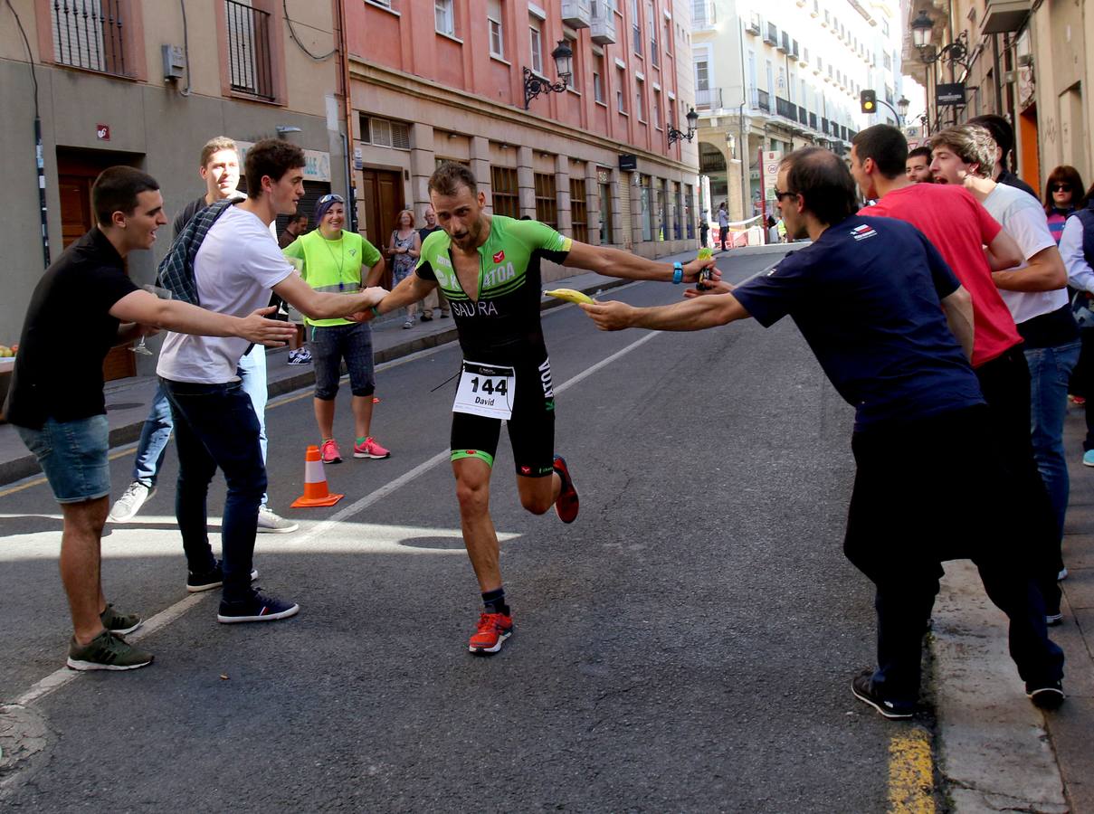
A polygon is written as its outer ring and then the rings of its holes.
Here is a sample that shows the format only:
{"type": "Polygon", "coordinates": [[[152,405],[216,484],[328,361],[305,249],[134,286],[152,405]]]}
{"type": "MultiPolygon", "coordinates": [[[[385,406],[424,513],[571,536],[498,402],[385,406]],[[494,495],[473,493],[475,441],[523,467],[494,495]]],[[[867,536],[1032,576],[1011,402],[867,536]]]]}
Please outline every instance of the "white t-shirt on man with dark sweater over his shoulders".
{"type": "MultiPolygon", "coordinates": [[[[232,316],[246,316],[269,305],[270,289],[291,274],[293,268],[269,226],[237,206],[217,219],[194,259],[198,303],[232,316]]],[[[234,337],[171,332],[163,340],[155,372],[172,382],[235,382],[240,379],[235,369],[248,345],[234,337]]]]}

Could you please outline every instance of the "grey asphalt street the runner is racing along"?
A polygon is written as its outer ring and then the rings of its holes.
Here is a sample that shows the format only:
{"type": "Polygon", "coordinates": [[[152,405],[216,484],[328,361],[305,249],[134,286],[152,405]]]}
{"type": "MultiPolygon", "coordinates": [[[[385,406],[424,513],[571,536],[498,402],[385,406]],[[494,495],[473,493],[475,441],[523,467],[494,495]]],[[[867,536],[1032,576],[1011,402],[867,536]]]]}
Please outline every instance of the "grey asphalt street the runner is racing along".
{"type": "MultiPolygon", "coordinates": [[[[771,260],[723,268],[741,279],[771,260]]],[[[609,295],[679,293],[642,283],[609,295]]],[[[466,650],[479,597],[443,454],[454,383],[431,392],[457,370],[450,346],[381,371],[373,431],[393,455],[327,467],[346,493],[330,509],[289,509],[315,443],[310,396],[269,409],[271,504],[302,528],[260,535],[256,566],[264,589],[300,602],[291,620],[221,626],[211,595],[176,607],[187,594],[168,453],[138,522],[103,540],[104,582],[123,609],[177,618],[141,640],[151,667],[74,675],[0,716],[0,801],[885,810],[892,724],[850,693],[874,636],[872,592],[840,550],[851,410],[792,324],[641,344],[647,332],[596,332],[574,306],[544,325],[556,447],[581,514],[566,526],[524,512],[502,441],[491,510],[516,631],[500,654],[466,650]]],[[[113,464],[117,493],[131,462],[113,464]]],[[[210,514],[222,505],[218,479],[210,514]]],[[[45,486],[0,497],[7,702],[63,664],[57,518],[45,486]]]]}

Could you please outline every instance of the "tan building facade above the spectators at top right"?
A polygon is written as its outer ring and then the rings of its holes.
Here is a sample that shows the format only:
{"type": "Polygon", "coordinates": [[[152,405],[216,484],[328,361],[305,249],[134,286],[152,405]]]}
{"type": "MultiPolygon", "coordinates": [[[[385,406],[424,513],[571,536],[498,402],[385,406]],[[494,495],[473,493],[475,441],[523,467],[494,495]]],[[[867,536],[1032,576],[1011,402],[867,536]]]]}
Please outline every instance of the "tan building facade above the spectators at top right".
{"type": "Polygon", "coordinates": [[[930,132],[1000,114],[1015,130],[1016,172],[1039,194],[1060,164],[1091,183],[1094,3],[954,0],[939,9],[912,0],[906,14],[905,69],[927,89],[930,132]],[[922,20],[930,43],[917,47],[912,24],[922,20]]]}

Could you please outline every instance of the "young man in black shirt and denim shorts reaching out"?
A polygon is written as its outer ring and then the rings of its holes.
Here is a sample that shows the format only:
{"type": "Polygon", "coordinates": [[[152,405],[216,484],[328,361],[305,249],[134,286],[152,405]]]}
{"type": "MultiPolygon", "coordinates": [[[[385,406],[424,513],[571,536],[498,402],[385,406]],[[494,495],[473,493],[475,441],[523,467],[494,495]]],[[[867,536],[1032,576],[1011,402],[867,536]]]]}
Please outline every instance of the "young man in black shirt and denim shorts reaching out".
{"type": "Polygon", "coordinates": [[[280,346],[292,333],[266,319],[213,314],[160,300],[126,276],[126,256],[151,248],[167,222],[160,185],[129,166],[103,171],[92,187],[96,225],[66,249],[31,298],[4,414],[15,426],[60,503],[61,581],[72,613],[68,665],[73,670],[135,670],[151,654],[127,643],[141,618],[114,609],[100,580],[100,538],[106,521],[107,462],[103,360],[115,345],[159,328],[232,336],[280,346]],[[57,360],[65,360],[63,374],[57,360]]]}

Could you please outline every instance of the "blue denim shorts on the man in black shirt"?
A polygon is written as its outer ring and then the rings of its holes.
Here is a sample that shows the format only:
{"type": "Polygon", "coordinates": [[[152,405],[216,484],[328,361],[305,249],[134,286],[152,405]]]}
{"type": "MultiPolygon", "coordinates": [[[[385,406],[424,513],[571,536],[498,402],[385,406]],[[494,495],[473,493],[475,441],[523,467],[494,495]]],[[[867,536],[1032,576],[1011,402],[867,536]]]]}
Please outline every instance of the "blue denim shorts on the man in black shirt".
{"type": "Polygon", "coordinates": [[[49,418],[40,430],[18,426],[15,430],[38,460],[58,503],[81,503],[110,493],[106,416],[77,421],[49,418]]]}

